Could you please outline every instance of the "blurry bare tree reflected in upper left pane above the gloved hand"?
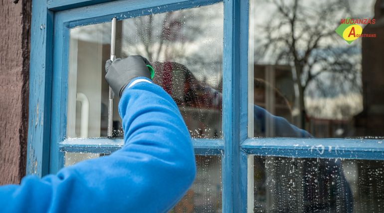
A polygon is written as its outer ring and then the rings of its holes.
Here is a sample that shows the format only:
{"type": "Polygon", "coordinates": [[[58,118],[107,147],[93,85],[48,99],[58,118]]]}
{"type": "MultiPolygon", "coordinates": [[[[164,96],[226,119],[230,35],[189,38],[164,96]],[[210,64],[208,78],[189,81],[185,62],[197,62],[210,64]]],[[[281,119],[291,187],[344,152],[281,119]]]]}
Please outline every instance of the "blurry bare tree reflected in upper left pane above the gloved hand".
{"type": "MultiPolygon", "coordinates": [[[[197,51],[191,54],[189,47],[199,42],[201,38],[209,39],[208,36],[215,36],[207,34],[211,25],[202,24],[204,19],[201,17],[212,16],[213,19],[220,20],[221,15],[208,13],[206,8],[200,7],[197,10],[178,10],[137,17],[133,22],[127,22],[126,30],[129,29],[133,33],[125,36],[124,39],[130,48],[129,52],[136,51],[146,55],[152,61],[170,58],[197,61],[192,58],[201,59],[203,55],[198,54],[197,51]]],[[[221,43],[218,44],[221,45],[221,43]]],[[[220,57],[217,59],[221,60],[220,57]]]]}

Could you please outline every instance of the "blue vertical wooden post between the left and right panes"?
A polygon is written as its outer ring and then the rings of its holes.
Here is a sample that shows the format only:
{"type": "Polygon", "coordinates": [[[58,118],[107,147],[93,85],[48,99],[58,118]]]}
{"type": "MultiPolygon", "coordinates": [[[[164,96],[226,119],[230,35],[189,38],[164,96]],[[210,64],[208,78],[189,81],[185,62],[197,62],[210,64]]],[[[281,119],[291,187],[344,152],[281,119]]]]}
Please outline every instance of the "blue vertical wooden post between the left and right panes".
{"type": "MultiPolygon", "coordinates": [[[[247,137],[248,1],[224,1],[223,212],[240,212],[240,143],[247,137]],[[243,9],[243,10],[242,10],[243,9]]],[[[244,166],[244,165],[243,165],[244,166]]]]}

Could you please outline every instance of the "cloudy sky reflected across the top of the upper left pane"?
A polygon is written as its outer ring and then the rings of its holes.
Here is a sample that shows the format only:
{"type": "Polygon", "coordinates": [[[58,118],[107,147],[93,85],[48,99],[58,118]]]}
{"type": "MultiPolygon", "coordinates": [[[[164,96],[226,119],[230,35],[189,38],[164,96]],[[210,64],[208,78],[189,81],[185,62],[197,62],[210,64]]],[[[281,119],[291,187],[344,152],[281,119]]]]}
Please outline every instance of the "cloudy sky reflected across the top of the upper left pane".
{"type": "MultiPolygon", "coordinates": [[[[150,61],[175,61],[186,65],[198,80],[205,79],[207,84],[218,86],[222,76],[222,2],[156,13],[152,16],[152,24],[148,15],[122,21],[122,46],[116,49],[120,49],[123,56],[140,54],[150,61]],[[168,40],[164,39],[167,27],[171,37],[168,40]],[[163,48],[158,52],[162,41],[163,48]]],[[[76,27],[71,30],[71,36],[75,35],[80,40],[109,44],[111,23],[76,27]]]]}

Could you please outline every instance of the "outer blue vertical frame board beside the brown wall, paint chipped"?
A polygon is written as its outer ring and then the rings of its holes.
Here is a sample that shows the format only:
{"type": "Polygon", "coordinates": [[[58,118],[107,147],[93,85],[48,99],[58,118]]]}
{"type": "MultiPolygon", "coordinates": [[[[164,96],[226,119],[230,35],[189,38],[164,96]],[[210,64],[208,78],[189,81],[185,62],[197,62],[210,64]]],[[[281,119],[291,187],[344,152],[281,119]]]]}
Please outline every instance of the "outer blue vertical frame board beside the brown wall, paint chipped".
{"type": "Polygon", "coordinates": [[[26,174],[48,174],[51,116],[53,13],[47,2],[32,2],[29,122],[26,174]]]}

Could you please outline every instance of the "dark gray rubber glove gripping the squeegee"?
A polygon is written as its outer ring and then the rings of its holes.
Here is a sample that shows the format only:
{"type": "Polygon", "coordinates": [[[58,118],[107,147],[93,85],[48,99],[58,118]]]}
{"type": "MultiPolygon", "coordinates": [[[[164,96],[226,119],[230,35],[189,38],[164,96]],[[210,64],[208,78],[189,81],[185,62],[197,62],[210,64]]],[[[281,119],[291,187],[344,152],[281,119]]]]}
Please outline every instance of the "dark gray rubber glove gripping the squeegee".
{"type": "Polygon", "coordinates": [[[147,58],[140,55],[132,55],[127,58],[117,58],[113,62],[105,62],[105,80],[119,97],[123,94],[125,87],[136,77],[151,79],[151,73],[147,67],[151,63],[147,58]]]}

